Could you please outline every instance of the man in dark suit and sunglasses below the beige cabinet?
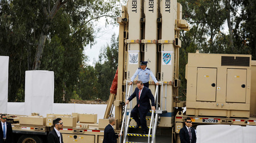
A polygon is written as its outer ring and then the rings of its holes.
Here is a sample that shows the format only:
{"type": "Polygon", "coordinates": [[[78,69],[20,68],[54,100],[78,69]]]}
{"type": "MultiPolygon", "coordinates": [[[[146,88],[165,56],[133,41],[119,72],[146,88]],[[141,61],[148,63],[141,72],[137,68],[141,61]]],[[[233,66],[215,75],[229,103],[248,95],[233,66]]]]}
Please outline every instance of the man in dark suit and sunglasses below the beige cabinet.
{"type": "Polygon", "coordinates": [[[180,129],[180,142],[181,143],[195,143],[196,142],[196,135],[194,127],[191,127],[191,119],[186,118],[185,124],[182,129],[180,129]]]}

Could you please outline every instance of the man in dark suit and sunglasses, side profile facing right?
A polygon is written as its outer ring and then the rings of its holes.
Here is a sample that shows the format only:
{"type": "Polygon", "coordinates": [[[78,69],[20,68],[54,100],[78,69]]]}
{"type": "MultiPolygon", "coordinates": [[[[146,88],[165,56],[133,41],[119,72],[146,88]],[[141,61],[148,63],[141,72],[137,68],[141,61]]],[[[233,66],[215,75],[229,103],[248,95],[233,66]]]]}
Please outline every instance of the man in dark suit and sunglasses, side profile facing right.
{"type": "Polygon", "coordinates": [[[48,143],[63,143],[63,137],[60,129],[63,129],[63,122],[61,118],[53,120],[53,130],[48,134],[48,143]]]}

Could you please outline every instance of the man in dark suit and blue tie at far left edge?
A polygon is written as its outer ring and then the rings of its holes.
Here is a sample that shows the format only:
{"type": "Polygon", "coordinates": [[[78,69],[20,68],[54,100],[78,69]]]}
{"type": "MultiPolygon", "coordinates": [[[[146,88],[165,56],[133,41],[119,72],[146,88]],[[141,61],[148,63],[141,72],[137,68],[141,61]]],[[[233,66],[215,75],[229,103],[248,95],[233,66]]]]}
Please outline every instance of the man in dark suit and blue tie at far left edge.
{"type": "Polygon", "coordinates": [[[5,114],[1,115],[1,126],[0,126],[0,143],[13,142],[12,136],[12,125],[7,122],[7,116],[5,114]]]}

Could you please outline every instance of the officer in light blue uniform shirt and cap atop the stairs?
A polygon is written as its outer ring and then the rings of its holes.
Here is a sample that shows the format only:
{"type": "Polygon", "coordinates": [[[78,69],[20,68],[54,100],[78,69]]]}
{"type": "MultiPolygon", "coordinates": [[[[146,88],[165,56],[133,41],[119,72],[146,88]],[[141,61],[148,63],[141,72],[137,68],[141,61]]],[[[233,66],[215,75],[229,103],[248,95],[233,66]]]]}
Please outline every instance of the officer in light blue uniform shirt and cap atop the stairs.
{"type": "Polygon", "coordinates": [[[143,85],[146,86],[147,88],[149,88],[149,75],[151,76],[152,80],[154,80],[156,85],[159,85],[158,81],[156,80],[154,74],[151,72],[150,68],[147,68],[146,61],[140,62],[140,68],[138,68],[134,73],[134,75],[131,77],[130,85],[132,85],[137,75],[139,75],[138,80],[141,80],[143,85]]]}

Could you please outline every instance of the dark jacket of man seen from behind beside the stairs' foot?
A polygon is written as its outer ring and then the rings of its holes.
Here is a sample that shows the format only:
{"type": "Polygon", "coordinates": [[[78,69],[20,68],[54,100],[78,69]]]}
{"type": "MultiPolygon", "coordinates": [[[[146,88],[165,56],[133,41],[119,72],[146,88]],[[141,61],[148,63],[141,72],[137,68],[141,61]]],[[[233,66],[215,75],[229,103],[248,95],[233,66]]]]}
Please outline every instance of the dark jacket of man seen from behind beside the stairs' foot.
{"type": "Polygon", "coordinates": [[[116,143],[118,135],[115,134],[113,127],[109,124],[104,129],[103,143],[116,143]]]}

